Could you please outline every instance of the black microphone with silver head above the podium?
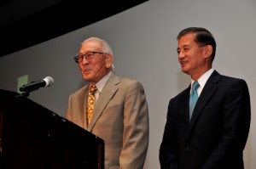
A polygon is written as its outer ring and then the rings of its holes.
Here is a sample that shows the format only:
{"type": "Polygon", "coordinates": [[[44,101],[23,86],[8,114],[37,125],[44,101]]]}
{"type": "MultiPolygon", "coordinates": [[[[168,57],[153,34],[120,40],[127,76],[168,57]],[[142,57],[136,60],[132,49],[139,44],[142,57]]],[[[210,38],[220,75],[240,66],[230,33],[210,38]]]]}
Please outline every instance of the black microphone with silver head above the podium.
{"type": "Polygon", "coordinates": [[[36,82],[30,82],[26,85],[23,85],[20,87],[20,92],[32,92],[34,90],[38,90],[39,87],[50,87],[54,83],[54,80],[52,77],[47,76],[43,80],[36,81],[36,82]]]}

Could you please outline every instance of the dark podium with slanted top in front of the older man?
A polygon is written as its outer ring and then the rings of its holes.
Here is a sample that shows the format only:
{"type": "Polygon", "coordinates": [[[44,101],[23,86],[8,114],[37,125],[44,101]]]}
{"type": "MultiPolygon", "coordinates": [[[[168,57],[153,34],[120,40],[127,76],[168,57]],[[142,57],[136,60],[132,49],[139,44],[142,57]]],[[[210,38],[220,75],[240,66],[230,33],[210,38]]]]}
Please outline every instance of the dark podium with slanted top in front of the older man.
{"type": "Polygon", "coordinates": [[[0,89],[0,168],[104,169],[104,141],[31,99],[0,89]]]}

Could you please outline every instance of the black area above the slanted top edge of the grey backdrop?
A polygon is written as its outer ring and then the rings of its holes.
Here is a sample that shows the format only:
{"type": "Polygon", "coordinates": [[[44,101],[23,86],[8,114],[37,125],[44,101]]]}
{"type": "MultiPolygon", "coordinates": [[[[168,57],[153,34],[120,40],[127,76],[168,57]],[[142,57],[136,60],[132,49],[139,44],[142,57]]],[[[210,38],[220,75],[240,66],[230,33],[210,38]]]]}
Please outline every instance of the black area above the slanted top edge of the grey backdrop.
{"type": "Polygon", "coordinates": [[[2,0],[0,57],[95,23],[147,0],[2,0]]]}

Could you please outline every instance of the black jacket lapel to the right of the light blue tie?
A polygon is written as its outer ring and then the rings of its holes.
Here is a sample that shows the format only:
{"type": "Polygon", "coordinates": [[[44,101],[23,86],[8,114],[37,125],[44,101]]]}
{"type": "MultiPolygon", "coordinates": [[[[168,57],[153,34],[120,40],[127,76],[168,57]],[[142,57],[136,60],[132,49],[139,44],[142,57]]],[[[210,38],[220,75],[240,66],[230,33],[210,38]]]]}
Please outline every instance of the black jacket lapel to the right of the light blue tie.
{"type": "Polygon", "coordinates": [[[218,88],[218,82],[220,81],[221,75],[218,74],[216,70],[212,72],[212,75],[207,80],[207,83],[203,90],[201,91],[201,95],[197,100],[197,103],[195,104],[195,109],[191,118],[191,121],[189,123],[189,131],[187,134],[187,138],[189,137],[189,133],[191,132],[192,128],[195,126],[195,123],[199,116],[202,113],[202,110],[206,106],[206,104],[209,102],[209,100],[212,98],[212,94],[215,93],[215,91],[218,88]]]}

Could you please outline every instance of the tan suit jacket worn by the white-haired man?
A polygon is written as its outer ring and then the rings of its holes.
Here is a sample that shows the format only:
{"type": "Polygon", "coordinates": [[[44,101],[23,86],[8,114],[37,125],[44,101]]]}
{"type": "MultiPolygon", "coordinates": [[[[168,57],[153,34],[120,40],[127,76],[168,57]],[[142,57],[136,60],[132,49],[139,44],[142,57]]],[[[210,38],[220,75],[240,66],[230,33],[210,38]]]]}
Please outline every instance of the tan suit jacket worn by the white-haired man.
{"type": "Polygon", "coordinates": [[[148,151],[148,103],[140,82],[114,73],[86,123],[88,85],[68,100],[67,119],[104,140],[105,169],[142,169],[148,151]]]}

